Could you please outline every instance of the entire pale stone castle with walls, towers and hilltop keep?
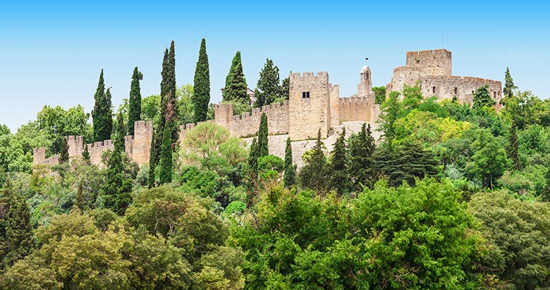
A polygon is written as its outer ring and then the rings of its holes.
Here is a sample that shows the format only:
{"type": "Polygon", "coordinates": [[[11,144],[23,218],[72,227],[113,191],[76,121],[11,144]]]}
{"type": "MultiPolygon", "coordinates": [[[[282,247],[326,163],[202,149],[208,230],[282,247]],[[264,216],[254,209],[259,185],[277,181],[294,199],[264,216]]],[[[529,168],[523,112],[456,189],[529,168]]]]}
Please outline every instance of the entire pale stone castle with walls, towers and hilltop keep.
{"type": "MultiPolygon", "coordinates": [[[[363,67],[360,72],[360,83],[357,84],[357,93],[352,97],[341,98],[338,85],[329,82],[328,73],[292,73],[288,101],[254,108],[251,113],[243,115],[233,115],[232,104],[219,103],[215,106],[214,120],[207,122],[226,127],[233,137],[247,138],[257,134],[260,116],[266,113],[270,135],[269,151],[283,158],[286,137],[290,137],[293,141],[293,160],[300,163],[302,154],[313,146],[313,142],[308,140],[317,138],[319,130],[327,149],[331,149],[331,142],[334,140],[329,137],[334,136],[332,132],[337,127],[346,127],[354,122],[369,122],[373,127],[377,127],[380,107],[375,103],[371,77],[370,68],[363,67]]],[[[456,98],[468,103],[472,102],[476,89],[488,84],[491,96],[497,106],[500,106],[501,82],[452,76],[451,51],[445,49],[408,52],[406,65],[393,70],[391,82],[386,86],[386,94],[401,91],[405,84],[413,86],[416,82],[420,82],[424,96],[435,95],[439,99],[456,98]]],[[[195,125],[180,126],[180,142],[195,125]]],[[[138,165],[149,162],[152,134],[151,121],[138,121],[135,122],[135,135],[125,137],[126,153],[138,165]]],[[[69,158],[80,158],[85,146],[82,136],[68,136],[67,141],[69,158]]],[[[91,163],[97,165],[102,165],[102,154],[105,151],[114,149],[111,140],[86,146],[90,152],[91,163]]],[[[45,158],[45,152],[44,148],[34,149],[35,165],[59,164],[59,156],[45,158]]]]}

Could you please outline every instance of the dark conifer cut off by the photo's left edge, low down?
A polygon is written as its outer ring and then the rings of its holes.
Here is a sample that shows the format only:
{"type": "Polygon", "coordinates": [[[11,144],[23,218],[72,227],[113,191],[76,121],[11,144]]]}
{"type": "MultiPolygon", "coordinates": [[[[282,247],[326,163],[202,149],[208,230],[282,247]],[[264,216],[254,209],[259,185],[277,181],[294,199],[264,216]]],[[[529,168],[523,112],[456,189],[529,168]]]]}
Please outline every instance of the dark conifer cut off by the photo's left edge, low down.
{"type": "Polygon", "coordinates": [[[6,179],[0,192],[0,270],[27,256],[34,244],[27,201],[6,179]]]}

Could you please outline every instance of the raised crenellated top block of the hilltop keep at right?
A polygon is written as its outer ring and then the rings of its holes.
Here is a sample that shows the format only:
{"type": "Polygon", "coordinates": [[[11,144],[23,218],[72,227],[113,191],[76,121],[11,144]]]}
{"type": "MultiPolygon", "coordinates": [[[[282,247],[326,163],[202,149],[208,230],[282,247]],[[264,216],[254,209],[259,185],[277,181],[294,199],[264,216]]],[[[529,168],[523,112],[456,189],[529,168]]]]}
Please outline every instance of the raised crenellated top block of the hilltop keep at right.
{"type": "Polygon", "coordinates": [[[451,76],[451,51],[446,49],[408,51],[407,66],[419,68],[422,75],[451,76]]]}

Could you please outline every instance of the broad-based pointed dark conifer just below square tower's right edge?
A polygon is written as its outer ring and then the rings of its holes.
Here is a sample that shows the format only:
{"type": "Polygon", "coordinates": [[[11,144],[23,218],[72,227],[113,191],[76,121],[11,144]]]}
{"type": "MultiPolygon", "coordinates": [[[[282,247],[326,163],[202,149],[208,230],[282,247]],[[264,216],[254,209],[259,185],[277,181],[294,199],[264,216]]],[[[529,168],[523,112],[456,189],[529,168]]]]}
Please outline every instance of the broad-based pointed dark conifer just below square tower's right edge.
{"type": "MultiPolygon", "coordinates": [[[[298,179],[302,187],[314,189],[318,194],[326,191],[327,180],[327,162],[323,151],[324,144],[321,141],[321,129],[317,133],[317,141],[311,149],[311,153],[305,160],[305,165],[298,173],[298,179]]],[[[305,155],[305,154],[304,154],[305,155]]]]}

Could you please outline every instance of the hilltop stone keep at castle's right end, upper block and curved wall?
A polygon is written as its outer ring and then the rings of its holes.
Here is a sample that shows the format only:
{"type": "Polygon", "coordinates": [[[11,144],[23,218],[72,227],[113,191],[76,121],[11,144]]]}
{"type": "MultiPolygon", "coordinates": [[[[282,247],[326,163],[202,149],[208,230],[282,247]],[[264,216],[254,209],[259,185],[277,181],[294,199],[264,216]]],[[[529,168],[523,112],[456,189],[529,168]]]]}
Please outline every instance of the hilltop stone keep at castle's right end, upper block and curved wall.
{"type": "Polygon", "coordinates": [[[457,77],[451,75],[451,51],[409,51],[407,63],[393,69],[391,82],[386,85],[386,96],[391,91],[401,92],[403,85],[412,87],[420,82],[424,97],[437,96],[439,100],[456,98],[458,101],[472,103],[474,92],[485,84],[489,85],[489,94],[500,108],[502,83],[479,77],[457,77]]]}

